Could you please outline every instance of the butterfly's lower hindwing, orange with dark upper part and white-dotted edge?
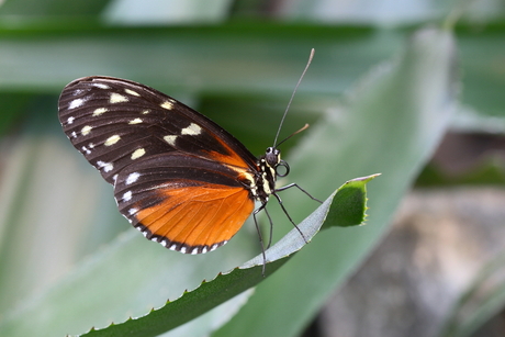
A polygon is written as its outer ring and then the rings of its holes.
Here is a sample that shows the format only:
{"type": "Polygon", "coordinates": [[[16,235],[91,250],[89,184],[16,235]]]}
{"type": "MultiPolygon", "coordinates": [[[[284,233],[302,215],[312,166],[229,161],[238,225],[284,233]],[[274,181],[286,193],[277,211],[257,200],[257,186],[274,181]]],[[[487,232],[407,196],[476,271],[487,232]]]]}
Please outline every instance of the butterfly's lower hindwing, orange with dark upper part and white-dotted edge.
{"type": "Polygon", "coordinates": [[[194,254],[224,245],[254,209],[233,169],[180,154],[126,167],[114,193],[120,212],[148,239],[194,254]]]}

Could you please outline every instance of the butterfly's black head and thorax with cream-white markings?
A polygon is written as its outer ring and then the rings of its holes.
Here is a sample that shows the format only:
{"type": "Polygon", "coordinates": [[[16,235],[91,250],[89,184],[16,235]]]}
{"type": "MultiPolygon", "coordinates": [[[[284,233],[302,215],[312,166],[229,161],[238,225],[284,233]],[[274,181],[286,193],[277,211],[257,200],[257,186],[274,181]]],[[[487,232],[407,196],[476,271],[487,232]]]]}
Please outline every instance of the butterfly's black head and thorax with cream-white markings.
{"type": "Polygon", "coordinates": [[[287,168],[287,172],[281,176],[284,177],[289,171],[289,167],[284,160],[281,160],[281,151],[274,147],[267,148],[265,155],[258,158],[257,165],[259,170],[255,177],[256,186],[251,189],[251,193],[256,200],[266,203],[270,194],[276,191],[277,168],[279,166],[287,168]]]}

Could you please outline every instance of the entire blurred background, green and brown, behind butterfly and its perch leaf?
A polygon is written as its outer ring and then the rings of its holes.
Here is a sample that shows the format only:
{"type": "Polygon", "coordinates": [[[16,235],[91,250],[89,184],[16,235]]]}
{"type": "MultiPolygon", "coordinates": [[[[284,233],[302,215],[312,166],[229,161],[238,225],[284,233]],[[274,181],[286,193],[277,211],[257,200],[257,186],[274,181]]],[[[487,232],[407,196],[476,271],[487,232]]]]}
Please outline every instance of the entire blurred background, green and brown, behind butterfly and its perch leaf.
{"type": "MultiPolygon", "coordinates": [[[[502,336],[504,13],[503,0],[1,1],[0,335],[143,316],[259,252],[249,222],[204,256],[130,228],[60,130],[65,85],[143,82],[260,155],[314,47],[281,138],[311,127],[282,146],[280,183],[326,199],[381,172],[368,224],[322,232],[166,336],[502,336]]],[[[282,198],[295,222],[317,206],[282,198]]],[[[269,210],[279,239],[291,225],[269,210]]]]}

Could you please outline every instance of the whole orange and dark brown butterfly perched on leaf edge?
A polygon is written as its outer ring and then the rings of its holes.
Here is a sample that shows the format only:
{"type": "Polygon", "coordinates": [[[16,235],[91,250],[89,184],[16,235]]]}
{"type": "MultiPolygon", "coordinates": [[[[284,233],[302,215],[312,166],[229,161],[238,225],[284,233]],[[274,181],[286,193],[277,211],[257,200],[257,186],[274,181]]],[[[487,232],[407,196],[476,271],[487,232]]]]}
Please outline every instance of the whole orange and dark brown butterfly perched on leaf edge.
{"type": "Polygon", "coordinates": [[[147,86],[79,78],[64,88],[58,110],[71,144],[114,187],[121,214],[168,249],[214,250],[252,213],[266,262],[256,215],[274,195],[295,225],[277,192],[296,187],[310,195],[296,183],[276,187],[290,170],[277,146],[256,158],[220,125],[147,86]]]}

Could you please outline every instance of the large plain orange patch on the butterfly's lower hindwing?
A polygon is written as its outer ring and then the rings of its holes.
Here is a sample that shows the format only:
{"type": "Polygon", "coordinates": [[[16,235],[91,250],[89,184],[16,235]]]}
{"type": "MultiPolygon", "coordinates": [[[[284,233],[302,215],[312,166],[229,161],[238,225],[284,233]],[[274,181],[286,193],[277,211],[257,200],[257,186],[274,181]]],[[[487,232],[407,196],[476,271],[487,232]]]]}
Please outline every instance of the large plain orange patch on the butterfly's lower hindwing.
{"type": "Polygon", "coordinates": [[[153,235],[189,247],[211,247],[231,239],[254,210],[244,188],[202,184],[159,193],[166,200],[138,211],[137,221],[153,235]]]}

